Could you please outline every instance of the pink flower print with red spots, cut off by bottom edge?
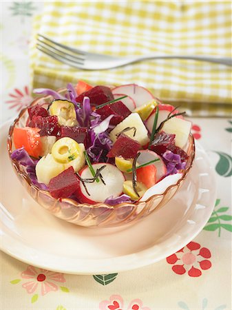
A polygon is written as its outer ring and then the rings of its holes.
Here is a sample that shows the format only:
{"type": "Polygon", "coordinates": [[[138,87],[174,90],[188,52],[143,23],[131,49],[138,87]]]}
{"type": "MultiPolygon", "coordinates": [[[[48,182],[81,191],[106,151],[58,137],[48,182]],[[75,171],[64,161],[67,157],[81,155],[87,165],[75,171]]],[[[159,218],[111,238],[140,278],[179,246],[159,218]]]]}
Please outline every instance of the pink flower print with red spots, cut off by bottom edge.
{"type": "MultiPolygon", "coordinates": [[[[109,300],[103,300],[99,304],[100,310],[125,310],[123,308],[123,298],[119,295],[110,296],[109,300]]],[[[140,299],[131,300],[127,310],[151,310],[148,307],[143,307],[143,302],[140,299]]]]}

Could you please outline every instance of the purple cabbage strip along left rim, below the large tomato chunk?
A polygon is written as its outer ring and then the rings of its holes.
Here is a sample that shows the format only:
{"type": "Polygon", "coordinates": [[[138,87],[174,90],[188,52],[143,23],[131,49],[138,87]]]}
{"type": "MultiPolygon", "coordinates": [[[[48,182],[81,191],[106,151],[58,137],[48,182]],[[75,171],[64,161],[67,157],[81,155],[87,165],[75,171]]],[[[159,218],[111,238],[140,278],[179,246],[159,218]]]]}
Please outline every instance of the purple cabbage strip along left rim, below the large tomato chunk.
{"type": "Polygon", "coordinates": [[[48,186],[43,183],[39,183],[36,178],[35,166],[36,163],[38,163],[38,160],[33,161],[23,147],[20,149],[15,149],[11,154],[11,158],[26,167],[25,171],[28,173],[33,185],[36,185],[40,189],[48,190],[48,186]]]}

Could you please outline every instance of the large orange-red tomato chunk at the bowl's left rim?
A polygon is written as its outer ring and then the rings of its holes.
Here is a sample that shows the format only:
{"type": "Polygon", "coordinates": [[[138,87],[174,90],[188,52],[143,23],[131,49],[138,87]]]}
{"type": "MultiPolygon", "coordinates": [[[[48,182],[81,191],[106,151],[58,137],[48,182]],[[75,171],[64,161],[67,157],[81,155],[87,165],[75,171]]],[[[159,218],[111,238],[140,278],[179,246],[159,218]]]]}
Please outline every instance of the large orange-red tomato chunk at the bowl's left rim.
{"type": "Polygon", "coordinates": [[[30,156],[38,158],[41,155],[43,145],[39,128],[24,127],[14,128],[14,146],[16,149],[24,147],[30,156]]]}

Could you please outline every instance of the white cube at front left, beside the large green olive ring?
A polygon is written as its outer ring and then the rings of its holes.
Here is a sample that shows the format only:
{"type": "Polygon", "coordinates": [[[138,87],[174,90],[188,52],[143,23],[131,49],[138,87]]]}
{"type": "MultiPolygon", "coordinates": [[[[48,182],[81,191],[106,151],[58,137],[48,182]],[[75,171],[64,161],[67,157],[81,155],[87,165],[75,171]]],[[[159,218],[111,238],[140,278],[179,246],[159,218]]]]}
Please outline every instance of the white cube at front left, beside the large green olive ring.
{"type": "Polygon", "coordinates": [[[51,178],[65,170],[65,165],[54,160],[52,154],[43,156],[36,164],[35,171],[39,183],[48,185],[51,178]]]}

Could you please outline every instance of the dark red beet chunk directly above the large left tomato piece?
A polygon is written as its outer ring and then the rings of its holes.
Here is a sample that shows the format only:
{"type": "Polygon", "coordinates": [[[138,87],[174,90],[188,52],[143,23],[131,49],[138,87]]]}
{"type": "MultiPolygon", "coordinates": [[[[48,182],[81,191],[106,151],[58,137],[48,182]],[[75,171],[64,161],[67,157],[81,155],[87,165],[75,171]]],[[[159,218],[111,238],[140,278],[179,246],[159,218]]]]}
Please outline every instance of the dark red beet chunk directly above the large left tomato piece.
{"type": "Polygon", "coordinates": [[[28,124],[30,127],[40,128],[41,136],[61,136],[61,126],[58,123],[58,117],[54,116],[33,116],[28,124]]]}

